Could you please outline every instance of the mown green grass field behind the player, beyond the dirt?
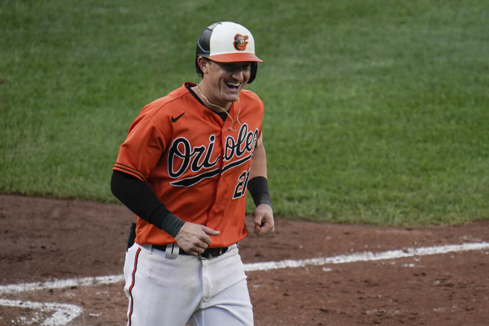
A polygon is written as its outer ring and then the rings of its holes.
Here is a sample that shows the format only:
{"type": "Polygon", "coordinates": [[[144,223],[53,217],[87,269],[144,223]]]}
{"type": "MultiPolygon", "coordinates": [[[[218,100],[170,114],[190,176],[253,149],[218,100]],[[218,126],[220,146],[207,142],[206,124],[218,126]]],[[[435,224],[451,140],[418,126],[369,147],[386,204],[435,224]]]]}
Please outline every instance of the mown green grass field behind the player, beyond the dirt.
{"type": "MultiPolygon", "coordinates": [[[[195,42],[246,25],[276,215],[489,219],[486,1],[0,4],[0,192],[115,201],[141,107],[197,82],[195,42]]],[[[251,211],[252,205],[249,204],[251,211]]]]}

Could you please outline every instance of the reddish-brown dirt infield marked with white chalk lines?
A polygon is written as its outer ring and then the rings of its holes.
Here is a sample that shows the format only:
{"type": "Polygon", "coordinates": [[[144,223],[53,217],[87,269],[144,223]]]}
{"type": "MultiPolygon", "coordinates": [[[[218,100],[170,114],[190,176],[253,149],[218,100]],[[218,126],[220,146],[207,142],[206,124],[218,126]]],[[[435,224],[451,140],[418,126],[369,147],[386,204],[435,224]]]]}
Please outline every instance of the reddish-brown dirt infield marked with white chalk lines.
{"type": "MultiPolygon", "coordinates": [[[[132,220],[117,204],[0,195],[0,325],[124,325],[132,220]]],[[[489,325],[488,230],[276,218],[273,235],[239,246],[258,266],[247,272],[255,325],[489,325]]]]}

